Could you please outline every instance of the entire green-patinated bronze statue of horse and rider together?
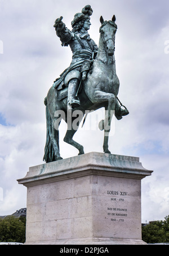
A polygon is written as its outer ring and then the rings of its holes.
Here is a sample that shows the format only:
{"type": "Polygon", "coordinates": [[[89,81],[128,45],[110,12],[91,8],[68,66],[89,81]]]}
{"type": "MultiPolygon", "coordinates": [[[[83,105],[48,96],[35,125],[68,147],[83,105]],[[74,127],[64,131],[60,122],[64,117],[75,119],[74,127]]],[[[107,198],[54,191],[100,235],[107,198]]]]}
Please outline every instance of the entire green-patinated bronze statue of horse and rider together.
{"type": "Polygon", "coordinates": [[[84,154],[83,146],[73,140],[74,133],[88,111],[105,107],[105,119],[100,121],[99,128],[104,130],[104,152],[110,153],[108,137],[112,114],[120,120],[129,113],[117,98],[119,79],[114,58],[117,31],[115,16],[109,21],[100,17],[98,48],[87,32],[91,25],[91,15],[90,5],[85,6],[82,13],[75,14],[72,31],[66,28],[63,17],[55,21],[56,34],[63,46],[70,46],[73,59],[70,67],[55,80],[45,98],[47,137],[43,160],[46,162],[62,159],[59,151],[61,119],[68,124],[64,141],[76,147],[79,154],[84,154]]]}

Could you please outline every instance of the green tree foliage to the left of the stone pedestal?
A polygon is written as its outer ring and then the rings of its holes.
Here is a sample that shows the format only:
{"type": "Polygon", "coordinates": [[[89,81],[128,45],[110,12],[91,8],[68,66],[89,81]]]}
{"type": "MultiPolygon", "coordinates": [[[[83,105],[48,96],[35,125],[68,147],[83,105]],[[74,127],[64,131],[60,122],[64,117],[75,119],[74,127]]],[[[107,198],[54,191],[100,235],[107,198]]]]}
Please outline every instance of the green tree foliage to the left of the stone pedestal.
{"type": "Polygon", "coordinates": [[[26,218],[6,216],[0,219],[0,242],[25,242],[26,218]]]}

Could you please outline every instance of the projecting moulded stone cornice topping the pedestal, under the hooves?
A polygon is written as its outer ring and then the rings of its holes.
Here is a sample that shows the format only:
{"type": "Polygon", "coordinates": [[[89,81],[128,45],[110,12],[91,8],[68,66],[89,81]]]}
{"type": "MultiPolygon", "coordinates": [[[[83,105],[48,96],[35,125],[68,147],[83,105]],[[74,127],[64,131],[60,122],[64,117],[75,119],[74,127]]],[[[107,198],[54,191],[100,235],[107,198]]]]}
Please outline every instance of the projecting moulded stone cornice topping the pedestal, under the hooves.
{"type": "Polygon", "coordinates": [[[91,152],[30,167],[26,176],[17,181],[28,187],[87,175],[141,180],[152,172],[142,166],[138,157],[91,152]]]}

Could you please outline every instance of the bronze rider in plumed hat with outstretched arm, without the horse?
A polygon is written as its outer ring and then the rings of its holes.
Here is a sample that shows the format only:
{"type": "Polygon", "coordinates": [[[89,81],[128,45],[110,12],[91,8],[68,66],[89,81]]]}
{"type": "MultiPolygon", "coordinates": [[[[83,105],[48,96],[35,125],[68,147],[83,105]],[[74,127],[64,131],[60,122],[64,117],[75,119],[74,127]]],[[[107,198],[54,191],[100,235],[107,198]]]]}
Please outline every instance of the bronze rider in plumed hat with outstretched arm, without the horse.
{"type": "MultiPolygon", "coordinates": [[[[75,108],[80,106],[79,98],[77,97],[77,90],[81,79],[86,79],[87,71],[90,68],[92,60],[96,57],[98,47],[94,40],[90,38],[88,29],[90,29],[90,16],[92,15],[92,8],[90,5],[82,9],[82,13],[74,15],[72,21],[72,31],[65,27],[63,17],[56,19],[55,30],[62,42],[62,46],[70,46],[73,57],[70,67],[61,75],[64,84],[68,86],[68,106],[75,108]]],[[[55,88],[59,85],[56,80],[55,88]]]]}

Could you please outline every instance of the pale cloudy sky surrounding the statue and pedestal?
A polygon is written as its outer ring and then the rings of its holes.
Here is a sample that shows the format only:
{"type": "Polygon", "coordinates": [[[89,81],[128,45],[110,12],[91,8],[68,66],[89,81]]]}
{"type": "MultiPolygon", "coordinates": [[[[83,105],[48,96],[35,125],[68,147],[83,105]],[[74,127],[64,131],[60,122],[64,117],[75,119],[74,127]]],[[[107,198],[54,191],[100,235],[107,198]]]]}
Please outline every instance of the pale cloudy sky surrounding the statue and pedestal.
{"type": "MultiPolygon", "coordinates": [[[[46,117],[43,100],[72,59],[53,27],[64,17],[71,29],[76,12],[90,4],[90,36],[99,43],[100,16],[115,14],[115,60],[119,98],[130,115],[114,120],[112,154],[140,157],[150,177],[142,180],[142,222],[169,214],[169,3],[167,0],[0,0],[0,215],[26,207],[26,188],[17,184],[30,166],[43,163],[46,117]]],[[[90,116],[74,139],[85,153],[103,152],[103,132],[90,116]],[[91,128],[91,129],[90,129],[91,128]]],[[[65,144],[63,158],[78,154],[65,144]]]]}

